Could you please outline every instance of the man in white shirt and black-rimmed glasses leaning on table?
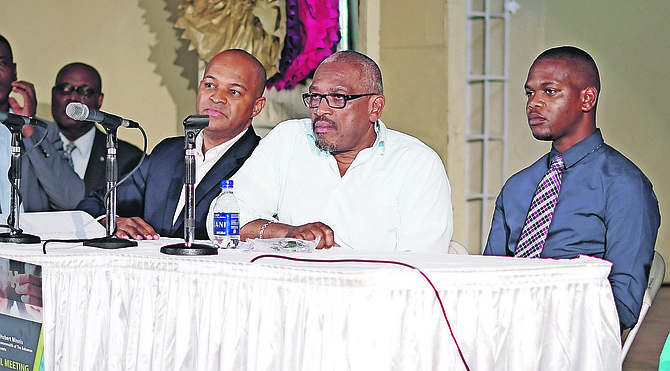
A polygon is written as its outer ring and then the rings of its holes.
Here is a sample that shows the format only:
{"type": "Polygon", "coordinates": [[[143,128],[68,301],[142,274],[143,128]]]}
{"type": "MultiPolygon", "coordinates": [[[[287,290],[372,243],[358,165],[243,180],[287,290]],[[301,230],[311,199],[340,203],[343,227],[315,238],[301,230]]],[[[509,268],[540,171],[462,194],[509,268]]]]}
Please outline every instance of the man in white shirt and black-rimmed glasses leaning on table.
{"type": "Polygon", "coordinates": [[[233,177],[241,238],[446,252],[453,220],[444,166],[428,146],[379,119],[385,97],[377,64],[354,51],[335,53],[303,100],[311,119],[277,125],[233,177]]]}

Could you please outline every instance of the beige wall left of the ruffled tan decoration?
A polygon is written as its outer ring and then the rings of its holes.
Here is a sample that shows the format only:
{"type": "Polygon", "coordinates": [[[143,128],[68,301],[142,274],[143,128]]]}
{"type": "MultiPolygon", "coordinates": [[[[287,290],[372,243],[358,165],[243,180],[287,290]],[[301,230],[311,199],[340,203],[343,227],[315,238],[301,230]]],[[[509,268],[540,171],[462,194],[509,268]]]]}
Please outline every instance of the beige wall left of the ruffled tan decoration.
{"type": "MultiPolygon", "coordinates": [[[[167,3],[174,3],[168,1],[167,3]]],[[[182,46],[164,1],[20,0],[3,4],[0,34],[12,44],[18,77],[35,84],[38,116],[51,119],[51,87],[64,65],[80,61],[98,69],[105,98],[101,109],[139,122],[149,149],[183,134],[195,110],[195,90],[175,66],[182,46]]],[[[173,5],[174,7],[174,5],[173,5]]],[[[182,57],[184,57],[182,55],[182,57]]],[[[188,53],[185,57],[188,59],[188,53]]],[[[194,56],[187,62],[197,73],[194,56]]],[[[136,130],[120,138],[140,146],[136,130]]]]}

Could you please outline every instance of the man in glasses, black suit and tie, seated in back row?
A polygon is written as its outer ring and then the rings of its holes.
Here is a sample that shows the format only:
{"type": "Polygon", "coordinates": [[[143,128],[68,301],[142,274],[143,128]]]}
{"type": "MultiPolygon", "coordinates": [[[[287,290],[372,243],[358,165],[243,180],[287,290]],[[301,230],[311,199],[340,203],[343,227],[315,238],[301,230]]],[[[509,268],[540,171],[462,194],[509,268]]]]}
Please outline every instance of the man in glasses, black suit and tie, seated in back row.
{"type": "MultiPolygon", "coordinates": [[[[65,153],[72,159],[74,171],[84,179],[85,194],[106,187],[107,134],[96,129],[94,122],[71,119],[65,113],[65,108],[71,102],[80,102],[90,108],[100,109],[103,97],[102,80],[98,71],[79,62],[61,68],[56,75],[56,85],[51,90],[51,115],[60,130],[65,153]]],[[[50,131],[52,129],[49,128],[50,131]]],[[[119,140],[119,175],[129,173],[140,161],[140,157],[141,150],[119,140]]]]}

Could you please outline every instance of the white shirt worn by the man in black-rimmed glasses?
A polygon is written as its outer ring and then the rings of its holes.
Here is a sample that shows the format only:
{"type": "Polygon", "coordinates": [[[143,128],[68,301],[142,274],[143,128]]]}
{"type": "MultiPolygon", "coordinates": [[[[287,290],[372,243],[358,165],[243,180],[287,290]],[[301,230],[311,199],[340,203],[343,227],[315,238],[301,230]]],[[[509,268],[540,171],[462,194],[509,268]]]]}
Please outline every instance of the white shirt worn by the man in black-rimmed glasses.
{"type": "Polygon", "coordinates": [[[442,160],[381,121],[375,130],[372,147],[340,176],[335,158],[314,144],[310,119],[277,125],[232,177],[240,225],[276,215],[294,226],[323,222],[342,247],[446,253],[453,211],[442,160]]]}

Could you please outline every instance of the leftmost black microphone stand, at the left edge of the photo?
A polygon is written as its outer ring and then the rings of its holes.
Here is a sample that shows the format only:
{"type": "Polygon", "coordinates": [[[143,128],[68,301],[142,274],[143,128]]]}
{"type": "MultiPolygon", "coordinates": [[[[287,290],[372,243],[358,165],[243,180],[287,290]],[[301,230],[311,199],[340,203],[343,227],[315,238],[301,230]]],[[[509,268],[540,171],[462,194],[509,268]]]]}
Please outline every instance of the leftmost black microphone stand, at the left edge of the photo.
{"type": "MultiPolygon", "coordinates": [[[[9,123],[8,118],[5,123],[9,123]]],[[[40,238],[31,234],[23,233],[19,228],[19,205],[21,204],[19,189],[21,187],[21,128],[23,121],[12,122],[7,128],[12,133],[12,158],[9,166],[9,180],[12,183],[10,212],[7,217],[10,231],[0,233],[0,242],[10,243],[40,243],[40,238]]]]}

